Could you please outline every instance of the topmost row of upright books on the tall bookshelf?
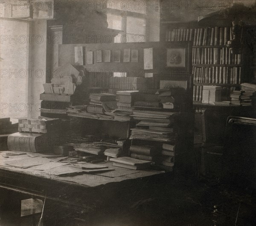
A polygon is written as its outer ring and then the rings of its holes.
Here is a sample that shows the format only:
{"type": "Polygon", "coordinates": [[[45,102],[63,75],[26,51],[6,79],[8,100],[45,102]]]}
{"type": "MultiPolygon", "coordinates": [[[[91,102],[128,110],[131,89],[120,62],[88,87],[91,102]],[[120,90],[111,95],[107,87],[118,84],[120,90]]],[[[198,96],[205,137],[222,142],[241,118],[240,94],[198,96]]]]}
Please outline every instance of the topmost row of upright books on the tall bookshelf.
{"type": "Polygon", "coordinates": [[[221,46],[226,45],[231,39],[231,27],[184,28],[166,31],[166,41],[192,41],[194,46],[221,46]]]}

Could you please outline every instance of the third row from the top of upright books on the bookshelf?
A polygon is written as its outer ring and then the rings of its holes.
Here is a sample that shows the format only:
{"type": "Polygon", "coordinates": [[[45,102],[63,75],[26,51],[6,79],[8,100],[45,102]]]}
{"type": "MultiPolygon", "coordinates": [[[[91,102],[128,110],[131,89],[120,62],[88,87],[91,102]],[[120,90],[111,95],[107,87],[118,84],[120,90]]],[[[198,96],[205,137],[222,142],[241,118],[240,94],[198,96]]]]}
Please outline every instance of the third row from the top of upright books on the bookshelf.
{"type": "Polygon", "coordinates": [[[194,83],[240,84],[241,67],[193,67],[194,83]]]}

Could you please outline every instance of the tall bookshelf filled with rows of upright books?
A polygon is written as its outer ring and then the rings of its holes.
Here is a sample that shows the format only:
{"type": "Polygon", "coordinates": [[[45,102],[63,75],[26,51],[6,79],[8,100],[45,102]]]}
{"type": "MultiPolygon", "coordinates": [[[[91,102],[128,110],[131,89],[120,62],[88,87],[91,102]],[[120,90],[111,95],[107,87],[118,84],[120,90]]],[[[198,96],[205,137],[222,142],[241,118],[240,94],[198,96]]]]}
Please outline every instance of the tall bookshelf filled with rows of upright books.
{"type": "Polygon", "coordinates": [[[203,86],[221,86],[221,100],[227,101],[239,84],[250,81],[246,52],[231,54],[226,47],[232,39],[231,27],[202,27],[197,21],[162,21],[160,34],[163,42],[193,43],[194,103],[202,101],[203,86]]]}

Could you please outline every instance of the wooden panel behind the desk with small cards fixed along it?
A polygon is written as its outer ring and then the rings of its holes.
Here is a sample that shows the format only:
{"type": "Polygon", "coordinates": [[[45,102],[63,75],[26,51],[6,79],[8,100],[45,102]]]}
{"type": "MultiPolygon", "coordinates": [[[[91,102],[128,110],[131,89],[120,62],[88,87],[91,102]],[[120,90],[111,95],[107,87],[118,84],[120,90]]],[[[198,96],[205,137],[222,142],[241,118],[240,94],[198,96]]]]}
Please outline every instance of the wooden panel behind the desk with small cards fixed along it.
{"type": "MultiPolygon", "coordinates": [[[[84,46],[84,55],[87,51],[94,52],[94,64],[87,64],[85,59],[85,68],[93,72],[127,72],[127,77],[144,77],[145,73],[159,72],[163,70],[164,46],[160,42],[148,43],[96,43],[96,44],[64,44],[59,45],[59,65],[64,66],[67,63],[75,63],[75,46],[84,46]],[[144,70],[143,49],[153,48],[154,69],[144,70]],[[123,62],[123,49],[137,49],[138,63],[123,62]],[[102,50],[102,60],[104,61],[105,50],[111,50],[111,62],[96,63],[96,50],[102,50]],[[113,51],[120,50],[120,63],[113,62],[113,51]]],[[[85,57],[86,58],[86,57],[85,57]]]]}

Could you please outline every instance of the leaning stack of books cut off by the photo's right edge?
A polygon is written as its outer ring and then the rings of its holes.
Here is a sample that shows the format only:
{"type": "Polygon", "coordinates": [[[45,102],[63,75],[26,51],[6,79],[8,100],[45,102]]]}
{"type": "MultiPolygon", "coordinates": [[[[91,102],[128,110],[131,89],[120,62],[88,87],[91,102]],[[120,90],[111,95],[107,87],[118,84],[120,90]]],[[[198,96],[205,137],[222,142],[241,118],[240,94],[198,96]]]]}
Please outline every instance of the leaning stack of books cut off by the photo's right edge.
{"type": "Polygon", "coordinates": [[[242,106],[250,106],[256,103],[256,84],[242,83],[240,96],[242,106]]]}

